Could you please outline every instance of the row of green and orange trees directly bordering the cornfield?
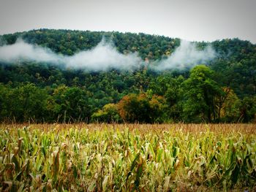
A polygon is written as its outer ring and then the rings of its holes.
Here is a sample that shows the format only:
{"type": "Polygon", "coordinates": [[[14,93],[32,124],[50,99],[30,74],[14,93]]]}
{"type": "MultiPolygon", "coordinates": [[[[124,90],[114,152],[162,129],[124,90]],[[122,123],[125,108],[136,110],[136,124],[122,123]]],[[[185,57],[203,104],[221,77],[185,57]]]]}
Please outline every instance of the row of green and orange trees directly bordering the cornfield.
{"type": "Polygon", "coordinates": [[[146,91],[127,93],[116,102],[95,107],[86,88],[60,85],[39,88],[31,82],[0,85],[1,121],[34,123],[220,123],[252,122],[256,97],[239,99],[214,80],[208,66],[195,66],[185,79],[159,76],[146,91]]]}

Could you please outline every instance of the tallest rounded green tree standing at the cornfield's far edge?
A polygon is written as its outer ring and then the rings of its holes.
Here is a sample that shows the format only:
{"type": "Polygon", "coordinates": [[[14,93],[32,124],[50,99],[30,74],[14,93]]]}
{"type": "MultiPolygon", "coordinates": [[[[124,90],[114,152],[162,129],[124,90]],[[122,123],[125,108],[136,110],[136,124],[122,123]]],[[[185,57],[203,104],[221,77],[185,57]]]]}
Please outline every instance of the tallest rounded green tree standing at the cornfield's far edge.
{"type": "Polygon", "coordinates": [[[222,93],[222,89],[213,77],[214,72],[205,65],[191,70],[189,78],[184,81],[185,120],[204,120],[208,123],[217,120],[214,98],[222,93]]]}

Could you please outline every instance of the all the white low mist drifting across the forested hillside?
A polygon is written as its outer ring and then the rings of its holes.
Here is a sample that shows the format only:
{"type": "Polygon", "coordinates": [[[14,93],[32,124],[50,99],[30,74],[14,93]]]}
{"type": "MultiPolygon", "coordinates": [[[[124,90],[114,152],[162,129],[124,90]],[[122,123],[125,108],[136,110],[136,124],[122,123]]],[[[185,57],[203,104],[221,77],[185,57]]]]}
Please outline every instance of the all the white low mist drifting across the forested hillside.
{"type": "MultiPolygon", "coordinates": [[[[216,55],[217,53],[210,46],[204,50],[197,50],[194,43],[181,41],[181,45],[168,58],[150,62],[149,65],[156,71],[190,69],[197,64],[211,61],[216,55]]],[[[146,64],[138,53],[121,54],[116,47],[105,42],[104,39],[91,50],[83,50],[72,56],[53,53],[49,48],[31,45],[22,39],[18,39],[13,45],[0,47],[0,62],[17,64],[30,61],[89,71],[134,70],[146,64]]]]}

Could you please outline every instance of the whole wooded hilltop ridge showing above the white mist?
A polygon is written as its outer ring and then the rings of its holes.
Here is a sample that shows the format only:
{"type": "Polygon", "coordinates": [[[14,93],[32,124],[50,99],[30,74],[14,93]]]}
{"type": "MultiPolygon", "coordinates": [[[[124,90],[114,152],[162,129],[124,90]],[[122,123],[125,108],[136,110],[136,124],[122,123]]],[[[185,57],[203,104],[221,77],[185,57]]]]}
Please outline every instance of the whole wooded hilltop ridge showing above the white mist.
{"type": "MultiPolygon", "coordinates": [[[[0,45],[13,44],[18,38],[26,42],[49,47],[56,53],[73,55],[80,50],[89,50],[95,47],[102,37],[111,39],[121,53],[138,52],[140,57],[157,60],[170,55],[180,45],[181,39],[149,34],[132,34],[104,31],[71,31],[39,29],[15,34],[5,34],[0,37],[0,45]]],[[[197,42],[198,47],[205,47],[208,42],[197,42]]],[[[255,47],[249,41],[239,39],[223,39],[211,42],[214,49],[223,57],[233,58],[237,62],[243,58],[255,55],[255,47]]]]}

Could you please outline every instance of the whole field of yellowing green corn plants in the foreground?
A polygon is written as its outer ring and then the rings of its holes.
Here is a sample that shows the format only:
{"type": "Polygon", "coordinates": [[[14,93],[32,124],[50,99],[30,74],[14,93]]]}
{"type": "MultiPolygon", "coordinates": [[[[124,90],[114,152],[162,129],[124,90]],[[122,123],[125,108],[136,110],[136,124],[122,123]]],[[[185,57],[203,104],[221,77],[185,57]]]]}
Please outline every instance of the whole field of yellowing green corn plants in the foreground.
{"type": "Polygon", "coordinates": [[[0,191],[255,191],[255,124],[0,125],[0,191]]]}

